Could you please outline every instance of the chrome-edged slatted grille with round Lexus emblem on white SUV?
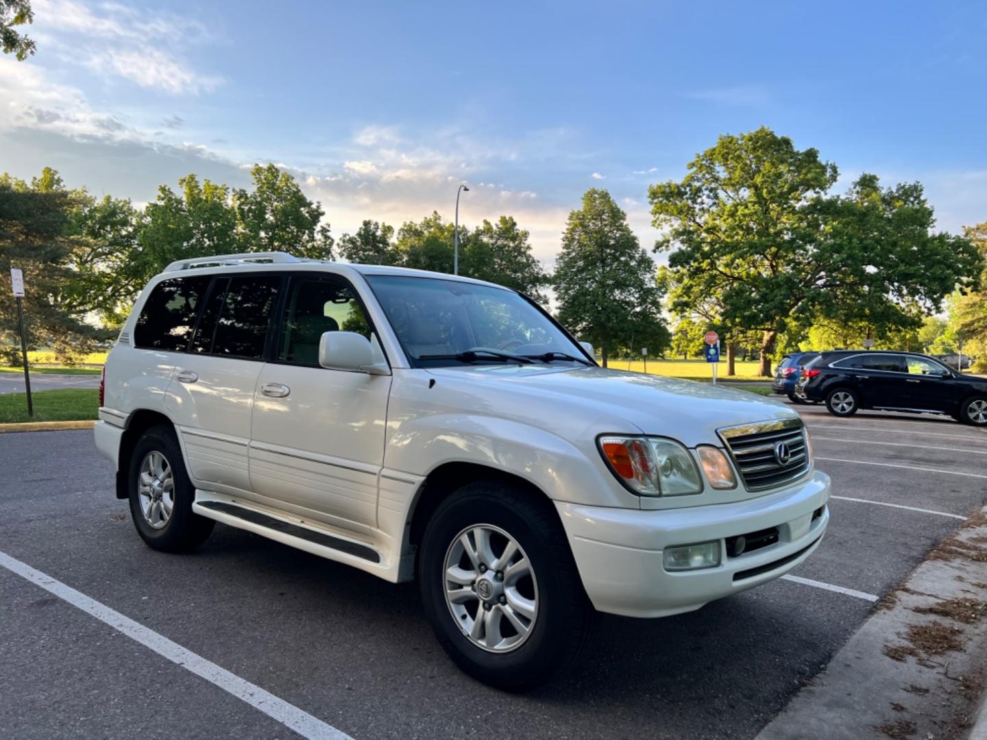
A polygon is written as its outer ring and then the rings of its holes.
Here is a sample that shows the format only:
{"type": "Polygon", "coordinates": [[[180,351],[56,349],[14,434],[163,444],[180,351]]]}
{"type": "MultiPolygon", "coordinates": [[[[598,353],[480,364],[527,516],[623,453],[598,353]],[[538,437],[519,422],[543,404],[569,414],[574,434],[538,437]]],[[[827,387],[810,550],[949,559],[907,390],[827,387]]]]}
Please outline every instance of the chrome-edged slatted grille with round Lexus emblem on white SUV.
{"type": "Polygon", "coordinates": [[[795,481],[811,464],[801,419],[728,426],[717,433],[748,490],[774,488],[795,481]]]}

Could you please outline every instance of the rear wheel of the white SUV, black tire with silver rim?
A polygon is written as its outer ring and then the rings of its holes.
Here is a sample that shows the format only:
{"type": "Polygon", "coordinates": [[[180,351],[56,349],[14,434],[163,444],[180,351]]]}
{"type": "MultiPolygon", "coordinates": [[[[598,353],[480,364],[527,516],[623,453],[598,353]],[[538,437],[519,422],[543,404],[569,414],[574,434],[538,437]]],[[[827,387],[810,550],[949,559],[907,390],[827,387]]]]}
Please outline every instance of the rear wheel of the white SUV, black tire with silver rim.
{"type": "Polygon", "coordinates": [[[127,484],[133,526],[155,550],[190,551],[212,533],[215,522],[191,510],[195,488],[170,426],[153,426],[137,440],[127,484]]]}

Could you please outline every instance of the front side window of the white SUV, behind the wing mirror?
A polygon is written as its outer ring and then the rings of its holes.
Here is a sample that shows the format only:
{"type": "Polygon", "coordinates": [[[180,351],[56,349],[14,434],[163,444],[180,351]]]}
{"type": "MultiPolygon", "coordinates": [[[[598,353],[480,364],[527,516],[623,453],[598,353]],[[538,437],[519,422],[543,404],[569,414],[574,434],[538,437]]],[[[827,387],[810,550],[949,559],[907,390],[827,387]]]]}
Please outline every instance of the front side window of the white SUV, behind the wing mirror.
{"type": "Polygon", "coordinates": [[[294,277],[284,306],[277,359],[319,366],[319,340],[326,332],[370,338],[370,323],[352,289],[332,277],[294,277]]]}

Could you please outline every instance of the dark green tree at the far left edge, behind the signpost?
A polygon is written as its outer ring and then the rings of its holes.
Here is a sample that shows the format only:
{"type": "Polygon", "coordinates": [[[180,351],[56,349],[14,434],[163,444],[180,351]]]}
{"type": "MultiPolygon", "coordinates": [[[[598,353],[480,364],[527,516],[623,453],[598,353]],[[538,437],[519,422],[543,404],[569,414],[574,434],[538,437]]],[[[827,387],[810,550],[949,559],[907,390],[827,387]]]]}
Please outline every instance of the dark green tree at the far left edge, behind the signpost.
{"type": "MultiPolygon", "coordinates": [[[[29,348],[52,346],[66,359],[105,338],[79,312],[66,310],[63,301],[72,276],[69,260],[78,246],[69,234],[77,197],[49,168],[31,185],[9,175],[0,177],[0,272],[6,276],[11,267],[24,271],[29,348]]],[[[0,290],[0,333],[4,356],[17,362],[17,309],[9,287],[0,290]]]]}

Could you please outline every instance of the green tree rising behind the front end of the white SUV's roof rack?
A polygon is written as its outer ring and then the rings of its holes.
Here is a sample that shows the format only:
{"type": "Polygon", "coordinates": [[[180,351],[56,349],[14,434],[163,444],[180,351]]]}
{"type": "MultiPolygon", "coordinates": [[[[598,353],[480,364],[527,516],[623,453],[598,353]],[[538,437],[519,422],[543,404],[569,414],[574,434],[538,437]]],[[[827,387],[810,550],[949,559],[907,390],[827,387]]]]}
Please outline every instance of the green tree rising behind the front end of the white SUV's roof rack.
{"type": "Polygon", "coordinates": [[[238,238],[244,252],[287,252],[333,259],[333,237],[322,224],[325,211],[309,200],[295,179],[274,165],[254,165],[254,189],[233,192],[238,238]]]}

